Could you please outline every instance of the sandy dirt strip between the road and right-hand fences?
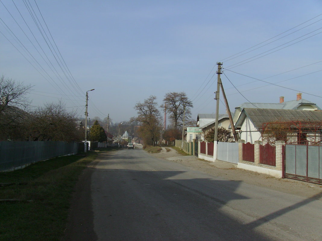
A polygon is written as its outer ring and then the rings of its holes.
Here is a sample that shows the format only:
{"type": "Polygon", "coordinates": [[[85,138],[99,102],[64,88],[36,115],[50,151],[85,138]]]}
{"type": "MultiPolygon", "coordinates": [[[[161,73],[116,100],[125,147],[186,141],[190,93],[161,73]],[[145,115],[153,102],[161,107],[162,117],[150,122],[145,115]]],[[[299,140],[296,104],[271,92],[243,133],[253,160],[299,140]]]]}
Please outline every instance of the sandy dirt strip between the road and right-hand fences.
{"type": "Polygon", "coordinates": [[[287,178],[275,178],[266,174],[238,169],[237,165],[223,161],[209,162],[198,159],[196,156],[181,156],[172,148],[167,152],[166,148],[162,147],[162,151],[160,153],[150,155],[177,162],[192,170],[200,170],[213,176],[233,181],[242,181],[306,198],[313,197],[314,195],[322,192],[322,185],[287,178]]]}

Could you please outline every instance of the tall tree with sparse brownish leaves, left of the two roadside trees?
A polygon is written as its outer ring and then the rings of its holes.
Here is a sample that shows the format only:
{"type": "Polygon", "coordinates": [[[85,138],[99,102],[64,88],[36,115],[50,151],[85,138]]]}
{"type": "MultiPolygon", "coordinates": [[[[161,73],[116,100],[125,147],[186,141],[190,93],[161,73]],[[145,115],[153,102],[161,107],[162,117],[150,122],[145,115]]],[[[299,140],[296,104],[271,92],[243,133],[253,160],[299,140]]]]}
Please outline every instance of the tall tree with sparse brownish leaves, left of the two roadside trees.
{"type": "Polygon", "coordinates": [[[132,117],[131,121],[140,123],[138,129],[139,136],[146,145],[155,145],[161,133],[161,114],[157,108],[156,96],[150,95],[143,103],[136,103],[134,109],[137,110],[137,117],[132,117]]]}

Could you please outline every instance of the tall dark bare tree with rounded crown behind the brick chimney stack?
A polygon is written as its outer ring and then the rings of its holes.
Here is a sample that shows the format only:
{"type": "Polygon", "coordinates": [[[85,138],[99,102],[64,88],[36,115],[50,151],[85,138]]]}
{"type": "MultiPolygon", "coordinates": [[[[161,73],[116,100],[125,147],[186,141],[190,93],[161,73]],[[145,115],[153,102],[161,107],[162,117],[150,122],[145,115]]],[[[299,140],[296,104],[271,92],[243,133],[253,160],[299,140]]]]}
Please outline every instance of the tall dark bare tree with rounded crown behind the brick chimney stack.
{"type": "Polygon", "coordinates": [[[191,118],[191,108],[193,107],[192,102],[188,99],[185,92],[169,92],[166,93],[163,99],[163,109],[170,113],[170,118],[174,122],[174,128],[182,126],[182,119],[184,115],[185,106],[185,117],[186,119],[191,118]]]}

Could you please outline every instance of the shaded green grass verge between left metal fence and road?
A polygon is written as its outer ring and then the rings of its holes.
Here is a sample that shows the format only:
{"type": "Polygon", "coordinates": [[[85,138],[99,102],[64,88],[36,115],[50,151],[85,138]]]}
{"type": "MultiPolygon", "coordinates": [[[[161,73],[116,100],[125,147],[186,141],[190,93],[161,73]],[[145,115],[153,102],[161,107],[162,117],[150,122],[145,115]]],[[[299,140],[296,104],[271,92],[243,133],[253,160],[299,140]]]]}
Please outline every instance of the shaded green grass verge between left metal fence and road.
{"type": "Polygon", "coordinates": [[[21,200],[0,202],[0,240],[60,240],[74,186],[96,156],[89,152],[85,157],[57,157],[0,173],[2,183],[24,183],[0,188],[1,199],[21,200]]]}

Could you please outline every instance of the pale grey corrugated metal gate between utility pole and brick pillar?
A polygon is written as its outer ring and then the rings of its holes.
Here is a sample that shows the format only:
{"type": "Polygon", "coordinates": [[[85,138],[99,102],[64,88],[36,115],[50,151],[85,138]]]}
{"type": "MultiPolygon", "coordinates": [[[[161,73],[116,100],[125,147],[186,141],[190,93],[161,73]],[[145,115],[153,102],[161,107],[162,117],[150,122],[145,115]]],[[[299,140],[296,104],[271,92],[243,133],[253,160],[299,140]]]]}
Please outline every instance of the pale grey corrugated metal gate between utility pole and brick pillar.
{"type": "Polygon", "coordinates": [[[217,159],[238,164],[238,143],[218,142],[217,159]]]}

